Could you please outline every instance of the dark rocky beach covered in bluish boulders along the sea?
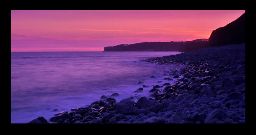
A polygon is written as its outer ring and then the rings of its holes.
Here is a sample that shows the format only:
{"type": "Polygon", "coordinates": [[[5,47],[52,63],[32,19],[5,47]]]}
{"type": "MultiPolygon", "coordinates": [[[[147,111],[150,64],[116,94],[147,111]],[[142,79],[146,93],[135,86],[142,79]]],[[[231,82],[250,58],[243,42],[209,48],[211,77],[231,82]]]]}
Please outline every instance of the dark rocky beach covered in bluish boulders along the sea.
{"type": "Polygon", "coordinates": [[[113,97],[102,96],[88,107],[57,113],[50,122],[40,116],[29,123],[245,123],[245,44],[140,62],[182,68],[163,73],[177,80],[174,83],[149,86],[150,98],[116,103],[113,97]]]}

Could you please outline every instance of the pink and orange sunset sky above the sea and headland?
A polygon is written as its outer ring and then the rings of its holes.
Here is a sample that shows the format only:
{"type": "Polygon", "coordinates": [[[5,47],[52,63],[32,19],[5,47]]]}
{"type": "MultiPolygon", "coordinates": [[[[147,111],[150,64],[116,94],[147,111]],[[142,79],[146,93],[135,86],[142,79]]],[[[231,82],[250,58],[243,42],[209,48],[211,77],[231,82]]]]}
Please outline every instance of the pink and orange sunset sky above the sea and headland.
{"type": "Polygon", "coordinates": [[[245,10],[11,12],[12,52],[62,52],[209,38],[245,10]]]}

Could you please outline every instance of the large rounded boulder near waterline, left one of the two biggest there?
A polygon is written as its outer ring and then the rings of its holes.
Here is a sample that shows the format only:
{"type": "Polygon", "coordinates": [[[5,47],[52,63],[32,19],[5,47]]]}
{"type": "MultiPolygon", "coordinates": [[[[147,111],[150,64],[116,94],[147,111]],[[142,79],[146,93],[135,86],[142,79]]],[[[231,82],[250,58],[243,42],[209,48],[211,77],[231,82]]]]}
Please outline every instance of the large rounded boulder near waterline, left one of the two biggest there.
{"type": "Polygon", "coordinates": [[[123,99],[119,103],[116,103],[115,106],[116,106],[115,107],[116,114],[121,113],[123,115],[129,115],[132,113],[132,109],[134,105],[131,99],[123,99]]]}

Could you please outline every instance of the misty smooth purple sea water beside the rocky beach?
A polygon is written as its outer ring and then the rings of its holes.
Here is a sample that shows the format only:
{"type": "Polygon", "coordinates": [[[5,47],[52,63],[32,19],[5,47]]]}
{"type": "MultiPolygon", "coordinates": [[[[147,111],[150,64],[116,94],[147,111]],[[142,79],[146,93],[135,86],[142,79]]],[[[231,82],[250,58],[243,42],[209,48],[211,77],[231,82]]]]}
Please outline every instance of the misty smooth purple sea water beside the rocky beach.
{"type": "Polygon", "coordinates": [[[38,116],[49,121],[53,109],[70,112],[116,92],[117,102],[148,97],[153,85],[166,82],[163,72],[172,67],[139,60],[178,53],[11,52],[11,123],[28,123],[38,116]],[[150,87],[133,92],[143,84],[150,87]]]}

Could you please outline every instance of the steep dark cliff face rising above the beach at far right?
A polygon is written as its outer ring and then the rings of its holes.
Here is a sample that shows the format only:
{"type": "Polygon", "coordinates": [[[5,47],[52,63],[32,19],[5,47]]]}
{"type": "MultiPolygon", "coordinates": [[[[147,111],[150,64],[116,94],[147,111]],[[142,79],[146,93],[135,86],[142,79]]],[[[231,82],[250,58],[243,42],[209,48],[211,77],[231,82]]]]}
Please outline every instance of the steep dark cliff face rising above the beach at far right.
{"type": "Polygon", "coordinates": [[[245,13],[224,27],[212,31],[210,46],[245,43],[245,13]]]}

